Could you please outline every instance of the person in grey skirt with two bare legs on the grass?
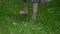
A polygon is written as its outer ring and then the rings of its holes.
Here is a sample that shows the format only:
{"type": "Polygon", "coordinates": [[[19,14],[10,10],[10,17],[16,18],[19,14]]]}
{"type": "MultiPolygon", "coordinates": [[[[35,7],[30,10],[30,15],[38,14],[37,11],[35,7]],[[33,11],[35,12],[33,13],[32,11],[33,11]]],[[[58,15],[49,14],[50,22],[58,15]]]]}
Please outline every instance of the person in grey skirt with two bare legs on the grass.
{"type": "Polygon", "coordinates": [[[24,9],[22,11],[20,11],[21,14],[28,14],[27,1],[33,3],[32,19],[35,20],[36,19],[37,10],[38,10],[38,3],[46,2],[46,0],[23,0],[24,9]]]}

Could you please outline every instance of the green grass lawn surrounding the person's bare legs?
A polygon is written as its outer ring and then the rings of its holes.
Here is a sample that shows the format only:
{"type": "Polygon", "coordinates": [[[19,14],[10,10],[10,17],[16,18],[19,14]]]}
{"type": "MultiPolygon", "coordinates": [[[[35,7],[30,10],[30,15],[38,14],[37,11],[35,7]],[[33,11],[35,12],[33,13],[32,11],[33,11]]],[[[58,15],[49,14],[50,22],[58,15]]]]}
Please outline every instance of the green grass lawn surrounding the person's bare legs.
{"type": "Polygon", "coordinates": [[[32,20],[32,3],[28,15],[21,15],[22,0],[0,0],[0,34],[60,34],[59,1],[39,4],[37,19],[32,20]]]}

